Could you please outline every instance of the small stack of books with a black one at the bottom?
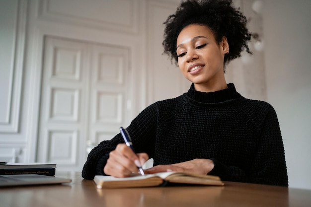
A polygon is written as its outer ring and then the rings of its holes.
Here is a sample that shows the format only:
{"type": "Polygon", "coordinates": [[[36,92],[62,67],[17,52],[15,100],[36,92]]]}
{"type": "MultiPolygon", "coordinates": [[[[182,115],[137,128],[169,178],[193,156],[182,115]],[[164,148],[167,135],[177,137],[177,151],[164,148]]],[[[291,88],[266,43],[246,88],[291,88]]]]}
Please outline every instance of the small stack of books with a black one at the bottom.
{"type": "Polygon", "coordinates": [[[0,175],[37,174],[55,176],[56,164],[51,163],[7,163],[0,165],[0,175]]]}

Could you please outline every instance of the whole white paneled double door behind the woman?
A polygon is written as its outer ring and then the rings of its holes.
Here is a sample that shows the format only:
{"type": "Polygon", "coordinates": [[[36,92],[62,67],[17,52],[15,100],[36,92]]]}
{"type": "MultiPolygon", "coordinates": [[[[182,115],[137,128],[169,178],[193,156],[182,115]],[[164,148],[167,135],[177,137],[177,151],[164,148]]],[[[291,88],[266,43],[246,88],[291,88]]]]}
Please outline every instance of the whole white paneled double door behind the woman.
{"type": "Polygon", "coordinates": [[[87,148],[111,139],[127,124],[130,51],[45,37],[37,161],[80,171],[87,148]]]}

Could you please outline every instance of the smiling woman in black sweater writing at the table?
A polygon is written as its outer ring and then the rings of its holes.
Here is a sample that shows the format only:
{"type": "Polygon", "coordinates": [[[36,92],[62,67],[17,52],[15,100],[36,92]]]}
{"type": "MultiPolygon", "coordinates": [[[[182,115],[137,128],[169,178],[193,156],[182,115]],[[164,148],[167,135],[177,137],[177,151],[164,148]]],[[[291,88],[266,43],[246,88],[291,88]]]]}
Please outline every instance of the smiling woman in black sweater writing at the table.
{"type": "Polygon", "coordinates": [[[118,134],[89,153],[82,176],[127,177],[153,158],[145,173],[185,171],[288,186],[275,110],[242,97],[225,80],[226,64],[244,49],[250,53],[246,18],[232,0],[188,0],[164,24],[164,53],[192,82],[190,89],[132,121],[127,130],[137,154],[118,134]]]}

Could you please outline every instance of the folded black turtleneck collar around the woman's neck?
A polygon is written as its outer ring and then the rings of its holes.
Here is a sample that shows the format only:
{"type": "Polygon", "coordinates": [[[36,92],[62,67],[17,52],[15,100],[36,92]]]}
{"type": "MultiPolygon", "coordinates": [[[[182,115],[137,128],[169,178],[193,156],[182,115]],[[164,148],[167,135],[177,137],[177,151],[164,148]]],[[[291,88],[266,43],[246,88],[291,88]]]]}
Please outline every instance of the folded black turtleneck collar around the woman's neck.
{"type": "Polygon", "coordinates": [[[220,103],[242,97],[238,92],[236,92],[233,83],[229,83],[227,85],[228,88],[223,90],[215,92],[200,92],[194,89],[194,84],[192,83],[187,92],[187,96],[195,101],[203,103],[220,103]]]}

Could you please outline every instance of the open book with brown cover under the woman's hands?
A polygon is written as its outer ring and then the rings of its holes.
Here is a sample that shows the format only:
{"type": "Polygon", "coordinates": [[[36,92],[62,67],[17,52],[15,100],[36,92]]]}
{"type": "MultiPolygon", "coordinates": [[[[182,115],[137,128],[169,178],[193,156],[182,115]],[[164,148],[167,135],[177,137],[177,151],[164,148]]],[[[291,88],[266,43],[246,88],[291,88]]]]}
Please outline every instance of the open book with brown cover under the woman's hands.
{"type": "Polygon", "coordinates": [[[218,176],[184,172],[160,172],[147,175],[133,174],[133,176],[127,178],[96,175],[94,177],[94,182],[96,183],[97,188],[151,187],[164,186],[166,183],[224,185],[218,176]]]}

